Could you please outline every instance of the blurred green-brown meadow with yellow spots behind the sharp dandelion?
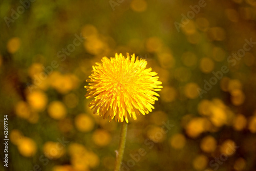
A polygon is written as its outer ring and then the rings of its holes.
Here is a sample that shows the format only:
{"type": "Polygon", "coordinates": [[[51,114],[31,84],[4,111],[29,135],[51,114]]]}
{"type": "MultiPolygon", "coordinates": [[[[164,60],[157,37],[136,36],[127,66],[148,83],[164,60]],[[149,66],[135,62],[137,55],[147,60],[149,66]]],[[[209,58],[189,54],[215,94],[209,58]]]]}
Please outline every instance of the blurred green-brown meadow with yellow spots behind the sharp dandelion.
{"type": "Polygon", "coordinates": [[[1,170],[113,170],[120,123],[84,86],[126,52],[163,89],[129,120],[122,170],[256,169],[255,1],[4,0],[0,16],[1,170]]]}

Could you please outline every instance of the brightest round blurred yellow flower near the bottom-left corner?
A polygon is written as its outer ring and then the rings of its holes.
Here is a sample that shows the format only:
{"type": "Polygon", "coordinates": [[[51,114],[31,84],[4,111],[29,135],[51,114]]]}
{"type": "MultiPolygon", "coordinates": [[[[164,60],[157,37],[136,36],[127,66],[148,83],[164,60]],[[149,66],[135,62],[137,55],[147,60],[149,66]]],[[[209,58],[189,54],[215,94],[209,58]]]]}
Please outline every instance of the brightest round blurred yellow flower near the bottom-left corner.
{"type": "Polygon", "coordinates": [[[36,143],[34,140],[28,137],[24,137],[20,143],[18,143],[18,151],[25,157],[32,157],[36,153],[36,143]]]}

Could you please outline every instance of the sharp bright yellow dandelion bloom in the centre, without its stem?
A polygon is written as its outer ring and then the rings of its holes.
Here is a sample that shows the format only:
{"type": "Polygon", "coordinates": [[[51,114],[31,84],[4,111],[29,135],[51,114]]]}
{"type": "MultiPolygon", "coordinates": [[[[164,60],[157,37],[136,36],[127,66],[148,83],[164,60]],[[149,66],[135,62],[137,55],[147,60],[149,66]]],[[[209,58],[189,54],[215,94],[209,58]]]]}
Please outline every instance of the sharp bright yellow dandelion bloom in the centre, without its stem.
{"type": "Polygon", "coordinates": [[[145,59],[135,59],[135,54],[125,58],[121,53],[116,53],[115,58],[103,57],[102,63],[96,62],[92,75],[87,82],[86,98],[94,99],[89,104],[93,113],[110,121],[114,119],[128,122],[128,116],[137,119],[137,115],[152,112],[155,100],[159,96],[154,91],[160,91],[161,81],[158,81],[157,73],[151,72],[152,68],[146,68],[145,59]]]}

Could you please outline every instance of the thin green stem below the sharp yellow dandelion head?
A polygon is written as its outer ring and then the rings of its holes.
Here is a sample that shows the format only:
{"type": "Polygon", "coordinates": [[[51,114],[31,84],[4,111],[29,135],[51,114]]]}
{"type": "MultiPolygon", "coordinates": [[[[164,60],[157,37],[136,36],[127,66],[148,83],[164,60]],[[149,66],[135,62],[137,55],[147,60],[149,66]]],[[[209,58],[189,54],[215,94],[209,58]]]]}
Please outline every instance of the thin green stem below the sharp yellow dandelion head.
{"type": "Polygon", "coordinates": [[[123,152],[124,152],[124,147],[125,147],[125,141],[126,141],[127,125],[128,124],[125,121],[122,122],[119,147],[118,147],[118,152],[116,154],[116,163],[115,163],[114,171],[119,171],[120,167],[121,167],[121,163],[122,163],[122,159],[123,159],[123,152]]]}

